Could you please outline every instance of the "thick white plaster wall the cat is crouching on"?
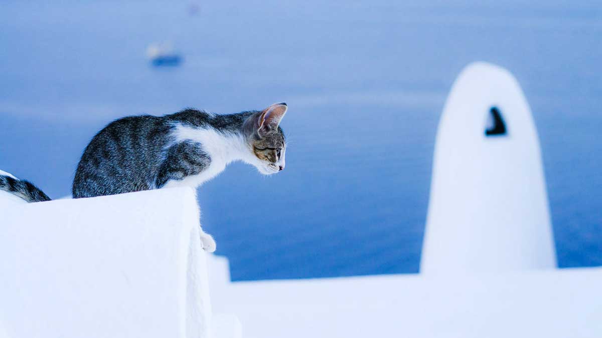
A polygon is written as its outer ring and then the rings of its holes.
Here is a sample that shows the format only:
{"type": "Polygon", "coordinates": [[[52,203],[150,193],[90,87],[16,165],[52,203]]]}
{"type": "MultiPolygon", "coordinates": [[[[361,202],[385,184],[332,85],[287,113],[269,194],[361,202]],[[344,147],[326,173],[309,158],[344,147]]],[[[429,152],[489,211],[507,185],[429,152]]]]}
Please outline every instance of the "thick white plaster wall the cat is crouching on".
{"type": "Polygon", "coordinates": [[[0,203],[0,321],[19,337],[208,337],[188,188],[0,203]]]}

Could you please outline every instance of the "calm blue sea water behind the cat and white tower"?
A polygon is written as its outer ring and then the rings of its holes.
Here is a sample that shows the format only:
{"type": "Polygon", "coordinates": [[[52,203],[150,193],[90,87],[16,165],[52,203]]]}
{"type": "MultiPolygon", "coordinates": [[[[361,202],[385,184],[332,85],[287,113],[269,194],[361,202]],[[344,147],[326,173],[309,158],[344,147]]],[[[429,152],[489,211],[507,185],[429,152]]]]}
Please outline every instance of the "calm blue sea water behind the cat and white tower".
{"type": "Polygon", "coordinates": [[[559,266],[602,265],[600,1],[4,0],[0,168],[63,197],[111,120],[285,101],[287,168],[199,189],[232,278],[415,273],[439,115],[477,60],[532,107],[559,266]]]}

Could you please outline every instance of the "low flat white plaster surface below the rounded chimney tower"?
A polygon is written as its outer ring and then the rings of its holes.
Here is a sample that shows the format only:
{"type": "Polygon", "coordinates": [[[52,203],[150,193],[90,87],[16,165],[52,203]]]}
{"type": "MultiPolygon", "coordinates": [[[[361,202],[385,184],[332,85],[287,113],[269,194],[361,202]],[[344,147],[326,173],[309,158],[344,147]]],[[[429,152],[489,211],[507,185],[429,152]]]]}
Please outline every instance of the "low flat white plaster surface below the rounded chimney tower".
{"type": "Polygon", "coordinates": [[[245,338],[599,338],[601,283],[601,268],[550,269],[237,282],[211,296],[245,338]]]}

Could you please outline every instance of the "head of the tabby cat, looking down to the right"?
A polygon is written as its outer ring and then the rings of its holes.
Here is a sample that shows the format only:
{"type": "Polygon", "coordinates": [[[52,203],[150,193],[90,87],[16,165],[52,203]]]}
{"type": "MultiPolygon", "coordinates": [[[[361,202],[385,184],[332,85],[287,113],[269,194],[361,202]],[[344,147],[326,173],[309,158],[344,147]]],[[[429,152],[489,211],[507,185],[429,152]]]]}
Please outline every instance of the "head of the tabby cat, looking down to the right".
{"type": "Polygon", "coordinates": [[[284,102],[274,103],[244,121],[244,135],[252,152],[249,162],[264,175],[278,173],[285,167],[287,143],[279,124],[287,108],[284,102]]]}

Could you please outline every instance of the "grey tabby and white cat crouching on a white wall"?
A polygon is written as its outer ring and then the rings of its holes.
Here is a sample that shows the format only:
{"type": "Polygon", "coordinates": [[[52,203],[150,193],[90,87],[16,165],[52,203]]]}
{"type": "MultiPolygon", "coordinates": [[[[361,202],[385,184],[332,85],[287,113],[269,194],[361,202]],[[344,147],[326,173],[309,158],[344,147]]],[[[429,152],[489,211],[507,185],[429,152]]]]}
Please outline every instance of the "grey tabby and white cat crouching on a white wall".
{"type": "MultiPolygon", "coordinates": [[[[185,109],[120,118],[85,148],[73,179],[73,198],[197,188],[234,161],[254,165],[264,175],[278,173],[285,167],[287,144],[279,125],[287,109],[282,102],[228,115],[185,109]]],[[[0,176],[0,190],[28,202],[50,200],[33,184],[6,177],[0,176]]],[[[206,250],[215,250],[210,235],[203,233],[202,240],[206,250]]]]}

